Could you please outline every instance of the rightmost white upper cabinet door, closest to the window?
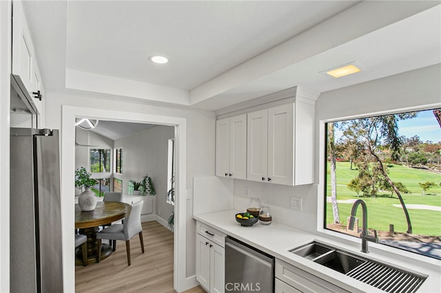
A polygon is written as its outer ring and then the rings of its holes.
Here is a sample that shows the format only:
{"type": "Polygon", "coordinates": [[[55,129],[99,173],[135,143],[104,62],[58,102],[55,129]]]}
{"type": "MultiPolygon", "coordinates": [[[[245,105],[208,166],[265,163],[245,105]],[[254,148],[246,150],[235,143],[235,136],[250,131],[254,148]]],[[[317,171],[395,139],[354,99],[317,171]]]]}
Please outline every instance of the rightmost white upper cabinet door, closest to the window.
{"type": "Polygon", "coordinates": [[[292,185],[294,105],[268,109],[268,179],[267,181],[292,185]]]}

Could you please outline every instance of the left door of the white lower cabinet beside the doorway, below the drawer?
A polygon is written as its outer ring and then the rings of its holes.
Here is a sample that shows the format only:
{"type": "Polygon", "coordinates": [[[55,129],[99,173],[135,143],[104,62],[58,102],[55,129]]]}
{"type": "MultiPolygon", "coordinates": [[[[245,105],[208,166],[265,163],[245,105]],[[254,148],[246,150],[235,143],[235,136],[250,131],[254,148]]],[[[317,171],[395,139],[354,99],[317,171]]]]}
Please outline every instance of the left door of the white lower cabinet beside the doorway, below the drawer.
{"type": "Polygon", "coordinates": [[[210,278],[209,251],[208,239],[196,234],[196,280],[198,280],[206,290],[209,290],[210,278]]]}

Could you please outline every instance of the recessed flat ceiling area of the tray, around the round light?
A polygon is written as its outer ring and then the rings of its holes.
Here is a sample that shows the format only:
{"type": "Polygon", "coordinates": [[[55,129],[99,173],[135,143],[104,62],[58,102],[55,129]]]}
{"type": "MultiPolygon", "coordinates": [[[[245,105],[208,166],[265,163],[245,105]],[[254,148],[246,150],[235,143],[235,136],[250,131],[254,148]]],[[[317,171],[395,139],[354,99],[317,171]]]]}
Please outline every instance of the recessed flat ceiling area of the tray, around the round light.
{"type": "Polygon", "coordinates": [[[193,89],[354,3],[70,1],[66,65],[193,89]],[[170,63],[150,63],[153,54],[170,63]]]}

